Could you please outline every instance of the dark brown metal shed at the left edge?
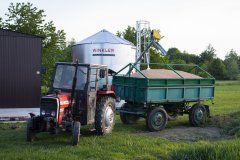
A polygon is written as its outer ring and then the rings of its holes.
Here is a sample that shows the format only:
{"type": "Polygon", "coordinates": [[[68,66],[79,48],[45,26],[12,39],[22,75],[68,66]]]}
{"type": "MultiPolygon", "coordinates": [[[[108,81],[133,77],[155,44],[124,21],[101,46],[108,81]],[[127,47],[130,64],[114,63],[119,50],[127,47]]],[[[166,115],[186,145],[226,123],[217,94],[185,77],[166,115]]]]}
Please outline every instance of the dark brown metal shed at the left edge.
{"type": "Polygon", "coordinates": [[[37,108],[42,38],[0,29],[0,108],[37,108]]]}

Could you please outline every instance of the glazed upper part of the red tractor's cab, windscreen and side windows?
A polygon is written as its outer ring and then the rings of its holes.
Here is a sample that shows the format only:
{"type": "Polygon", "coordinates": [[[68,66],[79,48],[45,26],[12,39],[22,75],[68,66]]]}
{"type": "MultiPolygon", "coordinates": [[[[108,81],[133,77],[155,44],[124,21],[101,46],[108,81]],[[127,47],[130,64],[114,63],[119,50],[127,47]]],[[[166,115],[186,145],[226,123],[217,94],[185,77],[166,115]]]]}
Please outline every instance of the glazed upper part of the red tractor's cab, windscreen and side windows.
{"type": "Polygon", "coordinates": [[[71,92],[74,74],[77,67],[76,91],[97,91],[102,89],[103,83],[107,85],[107,66],[93,64],[56,63],[51,91],[71,92]],[[98,82],[101,82],[99,85],[98,82]]]}

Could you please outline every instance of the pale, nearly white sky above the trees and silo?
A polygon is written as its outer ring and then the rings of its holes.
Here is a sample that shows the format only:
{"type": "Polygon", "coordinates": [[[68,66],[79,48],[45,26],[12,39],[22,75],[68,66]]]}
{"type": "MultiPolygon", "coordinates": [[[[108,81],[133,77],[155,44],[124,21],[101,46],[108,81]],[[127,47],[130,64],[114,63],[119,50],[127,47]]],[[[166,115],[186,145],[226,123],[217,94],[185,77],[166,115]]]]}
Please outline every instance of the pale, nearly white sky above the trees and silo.
{"type": "Polygon", "coordinates": [[[221,59],[231,49],[240,55],[239,0],[1,0],[3,19],[11,2],[43,9],[46,21],[63,29],[67,40],[78,42],[102,29],[116,34],[146,20],[151,29],[160,29],[166,50],[199,55],[211,44],[221,59]]]}

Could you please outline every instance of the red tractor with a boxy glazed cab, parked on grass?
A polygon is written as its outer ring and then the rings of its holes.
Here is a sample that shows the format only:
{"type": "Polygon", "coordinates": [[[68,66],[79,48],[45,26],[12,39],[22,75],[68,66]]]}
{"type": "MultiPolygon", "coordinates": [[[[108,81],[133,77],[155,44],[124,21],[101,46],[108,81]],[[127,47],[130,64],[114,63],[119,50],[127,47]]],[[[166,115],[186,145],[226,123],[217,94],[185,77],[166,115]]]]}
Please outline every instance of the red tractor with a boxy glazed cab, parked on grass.
{"type": "Polygon", "coordinates": [[[111,133],[115,124],[115,93],[108,85],[105,65],[56,63],[50,93],[41,98],[40,115],[30,114],[27,141],[39,132],[72,131],[77,145],[81,125],[93,125],[96,133],[111,133]]]}

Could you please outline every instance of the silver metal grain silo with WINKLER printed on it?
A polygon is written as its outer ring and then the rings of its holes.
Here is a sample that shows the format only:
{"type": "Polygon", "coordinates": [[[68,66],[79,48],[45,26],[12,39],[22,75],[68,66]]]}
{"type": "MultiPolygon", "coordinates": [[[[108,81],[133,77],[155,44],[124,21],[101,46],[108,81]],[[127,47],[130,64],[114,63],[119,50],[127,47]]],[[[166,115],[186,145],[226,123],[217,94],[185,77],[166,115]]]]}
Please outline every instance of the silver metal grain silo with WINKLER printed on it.
{"type": "Polygon", "coordinates": [[[117,72],[135,62],[135,53],[136,48],[131,42],[103,29],[73,46],[73,61],[104,64],[117,72]]]}

